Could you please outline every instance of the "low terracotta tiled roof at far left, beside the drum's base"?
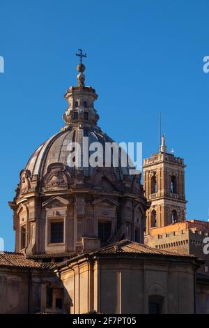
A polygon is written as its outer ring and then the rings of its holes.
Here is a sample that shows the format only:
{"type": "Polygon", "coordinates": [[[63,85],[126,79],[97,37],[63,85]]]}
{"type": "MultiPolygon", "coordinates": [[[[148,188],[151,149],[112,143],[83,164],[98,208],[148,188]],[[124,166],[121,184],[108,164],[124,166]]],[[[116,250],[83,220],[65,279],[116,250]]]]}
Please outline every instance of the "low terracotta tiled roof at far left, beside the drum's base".
{"type": "Polygon", "coordinates": [[[41,268],[40,263],[25,258],[21,253],[0,252],[0,267],[41,268]]]}

